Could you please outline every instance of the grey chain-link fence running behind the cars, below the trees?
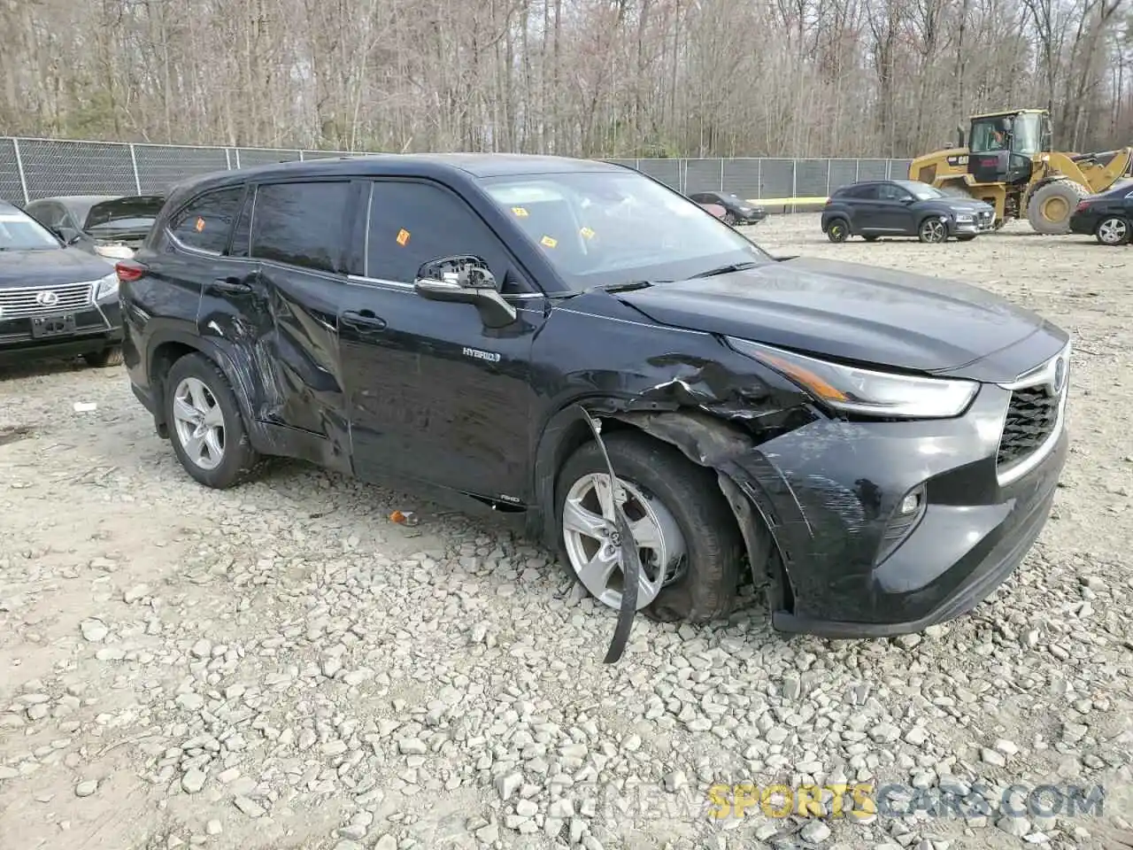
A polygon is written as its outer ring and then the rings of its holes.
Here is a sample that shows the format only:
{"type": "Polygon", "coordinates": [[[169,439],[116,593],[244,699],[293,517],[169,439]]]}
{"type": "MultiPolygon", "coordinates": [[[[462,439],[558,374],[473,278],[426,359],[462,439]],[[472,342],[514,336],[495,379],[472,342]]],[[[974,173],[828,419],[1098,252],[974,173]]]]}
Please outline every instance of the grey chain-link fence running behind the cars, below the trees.
{"type": "MultiPolygon", "coordinates": [[[[0,198],[23,205],[56,195],[162,194],[196,175],[296,160],[350,156],[347,151],[193,147],[0,137],[0,198]]],[[[359,155],[356,152],[353,155],[359,155]]],[[[678,192],[730,192],[783,210],[821,203],[840,186],[903,178],[909,160],[670,159],[610,160],[678,192]]]]}

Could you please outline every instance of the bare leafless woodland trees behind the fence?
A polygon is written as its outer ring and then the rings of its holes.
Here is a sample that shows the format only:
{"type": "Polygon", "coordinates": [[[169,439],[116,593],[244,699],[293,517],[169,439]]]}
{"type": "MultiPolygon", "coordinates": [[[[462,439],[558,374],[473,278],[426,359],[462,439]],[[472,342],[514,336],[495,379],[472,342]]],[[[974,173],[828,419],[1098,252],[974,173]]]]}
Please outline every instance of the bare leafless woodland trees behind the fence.
{"type": "Polygon", "coordinates": [[[0,134],[910,156],[972,111],[1133,144],[1133,0],[0,0],[0,134]]]}

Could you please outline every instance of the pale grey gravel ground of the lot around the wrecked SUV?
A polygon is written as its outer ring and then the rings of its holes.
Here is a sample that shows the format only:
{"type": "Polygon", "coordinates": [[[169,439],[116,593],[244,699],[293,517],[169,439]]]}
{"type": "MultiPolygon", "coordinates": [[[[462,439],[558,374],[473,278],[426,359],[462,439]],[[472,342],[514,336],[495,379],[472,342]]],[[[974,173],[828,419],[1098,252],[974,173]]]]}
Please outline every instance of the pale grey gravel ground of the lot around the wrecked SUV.
{"type": "Polygon", "coordinates": [[[1017,226],[835,246],[812,215],[753,232],[972,279],[1074,333],[1055,516],[993,600],[898,640],[639,619],[604,666],[614,613],[538,547],[300,465],[207,491],[120,368],[8,369],[0,847],[1121,845],[1133,440],[1111,411],[1133,409],[1133,248],[1017,226]],[[707,789],[744,781],[903,791],[867,817],[832,792],[808,818],[713,817],[707,789]],[[1071,785],[1104,787],[1102,809],[1071,814],[1071,785]]]}

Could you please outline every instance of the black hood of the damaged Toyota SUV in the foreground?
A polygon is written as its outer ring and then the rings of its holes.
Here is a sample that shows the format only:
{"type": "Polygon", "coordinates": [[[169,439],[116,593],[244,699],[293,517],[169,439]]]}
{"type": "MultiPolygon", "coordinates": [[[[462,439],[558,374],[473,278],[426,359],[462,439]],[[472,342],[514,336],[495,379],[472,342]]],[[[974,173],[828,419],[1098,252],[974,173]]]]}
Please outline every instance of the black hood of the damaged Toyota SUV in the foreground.
{"type": "Polygon", "coordinates": [[[947,372],[1014,348],[973,372],[993,381],[1013,380],[1066,341],[1041,316],[977,287],[825,260],[795,257],[617,297],[661,324],[898,369],[947,372]]]}

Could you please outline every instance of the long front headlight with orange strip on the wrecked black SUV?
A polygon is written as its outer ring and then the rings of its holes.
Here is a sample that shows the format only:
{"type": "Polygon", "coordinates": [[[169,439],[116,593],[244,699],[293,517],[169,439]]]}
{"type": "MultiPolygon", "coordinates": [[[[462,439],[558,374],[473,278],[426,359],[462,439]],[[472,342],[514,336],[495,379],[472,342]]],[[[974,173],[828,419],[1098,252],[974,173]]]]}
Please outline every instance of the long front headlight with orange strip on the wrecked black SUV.
{"type": "Polygon", "coordinates": [[[790,379],[816,400],[849,414],[943,419],[962,414],[979,390],[973,381],[874,372],[734,337],[729,337],[727,342],[790,379]]]}

